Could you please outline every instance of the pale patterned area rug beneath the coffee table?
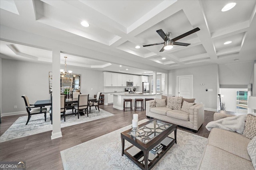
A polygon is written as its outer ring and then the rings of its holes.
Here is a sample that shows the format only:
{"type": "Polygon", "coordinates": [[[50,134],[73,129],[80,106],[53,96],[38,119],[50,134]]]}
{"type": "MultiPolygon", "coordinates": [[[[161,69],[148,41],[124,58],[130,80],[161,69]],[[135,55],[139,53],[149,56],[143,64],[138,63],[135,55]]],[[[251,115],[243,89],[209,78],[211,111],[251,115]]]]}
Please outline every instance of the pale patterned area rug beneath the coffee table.
{"type": "MultiPolygon", "coordinates": [[[[139,124],[148,121],[144,119],[139,124]]],[[[65,170],[138,170],[125,155],[121,156],[120,133],[131,125],[60,152],[65,170]]],[[[170,134],[174,138],[174,132],[170,134]]],[[[198,169],[207,139],[178,129],[177,144],[152,168],[153,170],[198,169]]],[[[125,141],[125,148],[131,144],[125,141]]]]}

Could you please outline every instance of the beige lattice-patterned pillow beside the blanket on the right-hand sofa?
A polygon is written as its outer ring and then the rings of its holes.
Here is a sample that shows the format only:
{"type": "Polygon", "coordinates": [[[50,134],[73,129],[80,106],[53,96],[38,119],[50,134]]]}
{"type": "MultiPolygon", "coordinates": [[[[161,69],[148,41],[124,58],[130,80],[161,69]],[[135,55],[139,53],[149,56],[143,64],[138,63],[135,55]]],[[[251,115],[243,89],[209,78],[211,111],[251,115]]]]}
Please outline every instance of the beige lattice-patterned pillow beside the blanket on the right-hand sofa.
{"type": "Polygon", "coordinates": [[[251,114],[246,116],[243,135],[249,139],[256,136],[256,116],[251,114]]]}

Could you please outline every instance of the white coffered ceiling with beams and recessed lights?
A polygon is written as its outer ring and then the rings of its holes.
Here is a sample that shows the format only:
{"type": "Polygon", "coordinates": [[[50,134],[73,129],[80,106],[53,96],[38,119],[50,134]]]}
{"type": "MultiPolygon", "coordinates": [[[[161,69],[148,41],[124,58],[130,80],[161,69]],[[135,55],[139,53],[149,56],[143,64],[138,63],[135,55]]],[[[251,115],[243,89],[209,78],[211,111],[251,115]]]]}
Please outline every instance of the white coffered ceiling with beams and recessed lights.
{"type": "Polygon", "coordinates": [[[256,60],[255,0],[0,0],[0,8],[2,58],[51,63],[60,49],[61,63],[68,56],[70,65],[132,74],[256,60]],[[158,29],[172,39],[196,27],[178,40],[187,47],[142,47],[164,42],[158,29]]]}

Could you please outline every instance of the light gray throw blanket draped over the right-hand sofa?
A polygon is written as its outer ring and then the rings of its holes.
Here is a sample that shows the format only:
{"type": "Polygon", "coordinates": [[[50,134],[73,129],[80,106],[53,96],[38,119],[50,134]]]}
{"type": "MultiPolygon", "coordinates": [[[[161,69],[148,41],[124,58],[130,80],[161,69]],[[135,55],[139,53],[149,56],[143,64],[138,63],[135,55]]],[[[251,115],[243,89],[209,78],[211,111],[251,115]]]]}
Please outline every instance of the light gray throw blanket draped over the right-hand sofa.
{"type": "Polygon", "coordinates": [[[227,131],[237,132],[242,134],[244,132],[244,123],[247,114],[225,117],[220,120],[211,121],[206,125],[206,129],[211,131],[212,128],[217,127],[227,131]]]}

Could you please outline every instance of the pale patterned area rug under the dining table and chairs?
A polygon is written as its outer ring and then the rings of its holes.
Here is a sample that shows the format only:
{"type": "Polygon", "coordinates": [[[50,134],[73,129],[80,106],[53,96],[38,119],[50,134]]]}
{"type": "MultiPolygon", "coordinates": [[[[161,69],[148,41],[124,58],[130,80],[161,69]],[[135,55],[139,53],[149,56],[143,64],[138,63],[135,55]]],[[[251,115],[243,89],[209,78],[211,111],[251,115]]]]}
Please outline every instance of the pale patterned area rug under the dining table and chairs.
{"type": "MultiPolygon", "coordinates": [[[[68,110],[66,113],[72,113],[72,110],[68,110]]],[[[96,119],[102,119],[104,117],[113,116],[114,114],[109,113],[103,109],[100,111],[96,110],[95,107],[92,107],[91,113],[85,114],[84,116],[79,115],[66,115],[66,121],[61,117],[61,127],[68,127],[80,123],[85,123],[88,121],[93,121],[96,119]]],[[[12,139],[17,139],[20,137],[26,137],[34,135],[37,133],[42,133],[46,131],[52,131],[52,124],[50,121],[50,114],[47,113],[46,121],[44,121],[44,114],[32,115],[28,125],[26,125],[28,116],[19,117],[9,129],[0,137],[0,143],[4,141],[10,141],[12,139]]]]}

